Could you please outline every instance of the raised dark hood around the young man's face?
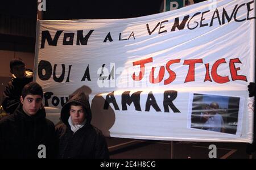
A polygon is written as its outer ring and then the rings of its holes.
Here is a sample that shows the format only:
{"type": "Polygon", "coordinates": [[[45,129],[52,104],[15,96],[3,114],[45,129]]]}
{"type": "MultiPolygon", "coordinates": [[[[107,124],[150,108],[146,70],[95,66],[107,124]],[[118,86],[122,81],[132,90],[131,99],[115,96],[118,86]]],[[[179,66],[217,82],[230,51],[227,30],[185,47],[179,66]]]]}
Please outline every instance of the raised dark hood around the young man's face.
{"type": "Polygon", "coordinates": [[[60,112],[61,121],[63,121],[63,123],[65,125],[69,125],[68,124],[68,118],[70,116],[69,115],[69,108],[70,108],[71,103],[75,102],[79,105],[82,105],[82,107],[85,108],[86,124],[90,124],[90,121],[92,120],[92,111],[90,110],[90,103],[89,103],[88,98],[89,97],[87,97],[84,94],[84,92],[79,92],[78,94],[71,97],[71,99],[69,99],[68,102],[65,103],[63,108],[61,109],[61,112],[60,112]]]}

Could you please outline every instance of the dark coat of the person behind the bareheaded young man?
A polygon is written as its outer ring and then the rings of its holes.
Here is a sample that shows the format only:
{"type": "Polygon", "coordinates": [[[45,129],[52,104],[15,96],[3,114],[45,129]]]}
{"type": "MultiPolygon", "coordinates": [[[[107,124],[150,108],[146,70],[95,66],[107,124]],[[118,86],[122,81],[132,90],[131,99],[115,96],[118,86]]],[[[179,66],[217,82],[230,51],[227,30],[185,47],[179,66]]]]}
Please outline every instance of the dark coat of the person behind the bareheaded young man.
{"type": "Polygon", "coordinates": [[[26,77],[23,79],[16,78],[13,75],[12,80],[5,87],[5,91],[3,91],[2,106],[5,112],[12,114],[15,111],[20,104],[20,95],[23,87],[32,82],[32,80],[33,73],[30,70],[26,71],[26,77]]]}

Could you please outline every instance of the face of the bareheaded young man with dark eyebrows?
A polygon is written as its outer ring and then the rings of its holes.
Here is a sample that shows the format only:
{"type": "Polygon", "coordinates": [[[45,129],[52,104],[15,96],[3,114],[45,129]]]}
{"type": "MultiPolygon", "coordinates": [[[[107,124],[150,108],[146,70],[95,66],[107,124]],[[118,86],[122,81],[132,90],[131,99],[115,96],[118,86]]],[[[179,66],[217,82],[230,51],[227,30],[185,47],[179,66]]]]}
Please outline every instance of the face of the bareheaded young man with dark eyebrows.
{"type": "Polygon", "coordinates": [[[27,95],[24,99],[20,96],[20,101],[23,104],[23,111],[28,114],[28,116],[35,115],[42,104],[42,97],[40,95],[27,95]]]}

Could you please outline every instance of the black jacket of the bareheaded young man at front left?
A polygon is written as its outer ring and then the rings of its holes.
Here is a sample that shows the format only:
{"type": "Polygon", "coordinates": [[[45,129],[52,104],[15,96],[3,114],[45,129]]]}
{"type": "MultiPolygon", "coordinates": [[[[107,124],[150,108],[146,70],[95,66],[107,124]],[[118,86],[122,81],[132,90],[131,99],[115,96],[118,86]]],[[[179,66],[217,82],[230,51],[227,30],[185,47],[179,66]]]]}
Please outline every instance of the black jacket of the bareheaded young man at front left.
{"type": "Polygon", "coordinates": [[[38,158],[46,146],[46,158],[56,157],[57,138],[54,124],[46,119],[44,107],[28,116],[22,104],[14,114],[0,120],[0,158],[38,158]]]}

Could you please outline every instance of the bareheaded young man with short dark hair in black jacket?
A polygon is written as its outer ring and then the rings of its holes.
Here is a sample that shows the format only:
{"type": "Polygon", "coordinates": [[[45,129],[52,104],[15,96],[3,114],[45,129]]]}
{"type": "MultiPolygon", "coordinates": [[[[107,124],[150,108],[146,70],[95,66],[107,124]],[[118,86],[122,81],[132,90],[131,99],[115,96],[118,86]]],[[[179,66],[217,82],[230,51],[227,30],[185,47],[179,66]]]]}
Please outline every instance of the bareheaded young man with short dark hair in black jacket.
{"type": "Polygon", "coordinates": [[[46,119],[42,98],[42,87],[28,83],[18,108],[0,120],[0,158],[56,157],[55,126],[46,119]],[[39,147],[42,145],[44,150],[39,147]]]}

